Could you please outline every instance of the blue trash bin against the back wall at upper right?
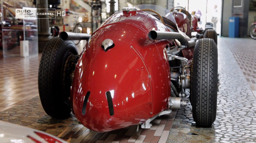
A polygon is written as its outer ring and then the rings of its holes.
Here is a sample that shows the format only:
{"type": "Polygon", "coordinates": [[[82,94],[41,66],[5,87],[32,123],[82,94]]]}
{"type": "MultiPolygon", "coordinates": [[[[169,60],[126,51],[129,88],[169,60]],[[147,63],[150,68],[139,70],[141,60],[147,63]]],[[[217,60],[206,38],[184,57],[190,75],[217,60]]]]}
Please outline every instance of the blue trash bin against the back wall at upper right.
{"type": "Polygon", "coordinates": [[[228,37],[239,37],[239,17],[229,17],[228,37]]]}

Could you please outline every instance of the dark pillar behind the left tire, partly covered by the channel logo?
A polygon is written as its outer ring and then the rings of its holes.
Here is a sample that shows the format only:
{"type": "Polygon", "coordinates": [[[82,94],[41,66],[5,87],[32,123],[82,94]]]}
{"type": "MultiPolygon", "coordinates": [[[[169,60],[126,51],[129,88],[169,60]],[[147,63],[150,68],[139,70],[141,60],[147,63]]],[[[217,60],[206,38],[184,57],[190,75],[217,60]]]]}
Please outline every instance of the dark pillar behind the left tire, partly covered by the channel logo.
{"type": "MultiPolygon", "coordinates": [[[[48,13],[48,1],[37,0],[37,9],[41,9],[37,12],[48,13]]],[[[43,52],[44,46],[52,38],[48,18],[48,15],[38,15],[38,52],[43,52]]]]}

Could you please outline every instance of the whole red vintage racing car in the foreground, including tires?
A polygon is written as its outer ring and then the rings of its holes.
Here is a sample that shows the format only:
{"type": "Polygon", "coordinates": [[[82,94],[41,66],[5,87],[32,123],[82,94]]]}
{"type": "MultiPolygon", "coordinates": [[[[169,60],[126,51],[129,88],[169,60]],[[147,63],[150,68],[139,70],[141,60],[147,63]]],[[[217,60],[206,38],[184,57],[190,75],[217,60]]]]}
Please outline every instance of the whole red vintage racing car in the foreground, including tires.
{"type": "Polygon", "coordinates": [[[125,7],[92,35],[61,32],[42,53],[42,106],[55,118],[72,111],[94,131],[150,128],[157,116],[185,106],[190,89],[196,125],[210,127],[217,108],[217,45],[196,40],[156,5],[125,7]],[[71,40],[88,40],[81,54],[71,40]]]}

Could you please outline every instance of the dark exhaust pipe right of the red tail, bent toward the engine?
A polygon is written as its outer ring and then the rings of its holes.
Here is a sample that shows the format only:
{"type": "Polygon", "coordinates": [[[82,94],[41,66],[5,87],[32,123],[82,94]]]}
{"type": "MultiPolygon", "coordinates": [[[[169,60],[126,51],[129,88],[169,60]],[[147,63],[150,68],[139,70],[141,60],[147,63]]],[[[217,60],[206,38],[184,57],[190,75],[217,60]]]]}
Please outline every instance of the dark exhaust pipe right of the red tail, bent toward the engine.
{"type": "Polygon", "coordinates": [[[150,31],[148,37],[152,40],[161,40],[161,39],[177,39],[182,45],[187,44],[187,39],[178,32],[163,32],[163,31],[150,31]]]}

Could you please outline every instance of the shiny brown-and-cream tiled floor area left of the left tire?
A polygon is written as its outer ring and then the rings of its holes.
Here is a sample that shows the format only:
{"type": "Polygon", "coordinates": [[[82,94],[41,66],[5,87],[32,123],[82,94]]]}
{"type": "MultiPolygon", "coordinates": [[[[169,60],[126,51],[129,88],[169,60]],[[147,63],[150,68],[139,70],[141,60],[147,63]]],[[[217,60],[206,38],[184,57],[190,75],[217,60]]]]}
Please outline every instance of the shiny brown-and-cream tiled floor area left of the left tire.
{"type": "Polygon", "coordinates": [[[39,57],[0,58],[0,112],[39,96],[39,57]]]}

